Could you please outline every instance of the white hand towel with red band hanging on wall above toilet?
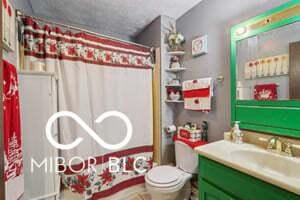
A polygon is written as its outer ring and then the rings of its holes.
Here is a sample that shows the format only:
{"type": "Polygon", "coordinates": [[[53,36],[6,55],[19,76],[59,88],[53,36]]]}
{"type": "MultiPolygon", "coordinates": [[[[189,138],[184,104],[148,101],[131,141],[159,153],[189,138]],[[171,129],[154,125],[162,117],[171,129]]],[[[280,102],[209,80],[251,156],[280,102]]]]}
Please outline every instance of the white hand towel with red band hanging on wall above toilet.
{"type": "Polygon", "coordinates": [[[182,87],[184,109],[202,112],[211,111],[211,97],[213,96],[212,78],[184,81],[182,87]]]}

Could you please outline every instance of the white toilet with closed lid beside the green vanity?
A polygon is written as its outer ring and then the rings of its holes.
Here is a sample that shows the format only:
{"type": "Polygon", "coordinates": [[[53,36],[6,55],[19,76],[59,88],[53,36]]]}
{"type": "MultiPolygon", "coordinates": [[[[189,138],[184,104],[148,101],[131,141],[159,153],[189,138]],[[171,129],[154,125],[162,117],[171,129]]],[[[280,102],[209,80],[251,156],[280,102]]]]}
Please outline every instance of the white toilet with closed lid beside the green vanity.
{"type": "Polygon", "coordinates": [[[191,147],[175,141],[176,167],[154,167],[145,176],[146,188],[152,200],[188,200],[190,179],[197,173],[197,155],[191,147]]]}

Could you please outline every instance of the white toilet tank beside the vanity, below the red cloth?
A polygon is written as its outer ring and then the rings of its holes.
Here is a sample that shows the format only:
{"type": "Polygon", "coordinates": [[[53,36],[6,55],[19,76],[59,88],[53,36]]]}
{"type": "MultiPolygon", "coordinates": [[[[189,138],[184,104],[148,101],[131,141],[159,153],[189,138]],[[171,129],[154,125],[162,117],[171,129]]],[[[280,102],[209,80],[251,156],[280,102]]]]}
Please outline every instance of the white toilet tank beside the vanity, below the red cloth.
{"type": "Polygon", "coordinates": [[[198,156],[189,145],[175,141],[175,158],[177,167],[187,173],[197,174],[198,156]]]}

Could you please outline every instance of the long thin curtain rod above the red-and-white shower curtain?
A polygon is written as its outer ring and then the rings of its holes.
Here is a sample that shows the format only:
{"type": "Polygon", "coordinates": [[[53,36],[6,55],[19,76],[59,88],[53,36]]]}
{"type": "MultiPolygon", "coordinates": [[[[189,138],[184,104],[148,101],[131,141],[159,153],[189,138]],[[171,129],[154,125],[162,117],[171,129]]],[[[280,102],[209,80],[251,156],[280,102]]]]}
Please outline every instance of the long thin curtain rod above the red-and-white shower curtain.
{"type": "Polygon", "coordinates": [[[71,29],[76,30],[76,31],[83,31],[83,32],[92,34],[94,36],[104,37],[104,38],[107,38],[107,39],[111,39],[111,40],[115,40],[115,41],[118,41],[118,42],[122,42],[124,44],[133,44],[133,45],[137,45],[137,46],[140,46],[140,47],[151,48],[151,47],[146,46],[146,45],[138,44],[138,43],[131,42],[131,41],[122,40],[122,39],[115,38],[115,37],[108,36],[108,35],[103,35],[103,34],[100,34],[100,33],[97,33],[97,32],[93,32],[93,31],[89,31],[89,30],[86,30],[86,29],[83,29],[83,28],[79,28],[79,27],[76,27],[76,26],[72,26],[72,25],[68,25],[68,24],[63,24],[63,23],[59,23],[59,22],[55,22],[55,21],[50,21],[50,20],[47,20],[47,19],[45,19],[43,17],[37,17],[37,16],[33,16],[33,15],[28,15],[25,12],[23,12],[22,10],[19,10],[19,9],[17,9],[17,16],[32,17],[33,19],[36,19],[36,20],[39,20],[39,21],[42,21],[42,22],[45,22],[45,23],[50,23],[50,24],[61,26],[61,27],[65,27],[65,28],[71,28],[71,29]]]}

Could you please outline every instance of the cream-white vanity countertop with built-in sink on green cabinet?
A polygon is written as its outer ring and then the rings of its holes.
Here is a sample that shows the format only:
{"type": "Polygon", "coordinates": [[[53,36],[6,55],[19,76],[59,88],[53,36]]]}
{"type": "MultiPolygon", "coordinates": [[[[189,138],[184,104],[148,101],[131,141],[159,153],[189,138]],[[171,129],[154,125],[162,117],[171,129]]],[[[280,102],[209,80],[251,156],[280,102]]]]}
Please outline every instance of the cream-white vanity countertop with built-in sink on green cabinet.
{"type": "Polygon", "coordinates": [[[252,144],[221,140],[195,149],[211,160],[300,195],[300,158],[286,157],[252,144]]]}

